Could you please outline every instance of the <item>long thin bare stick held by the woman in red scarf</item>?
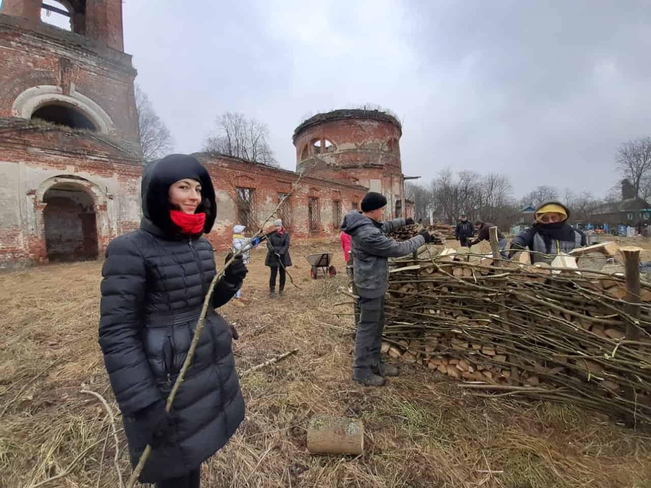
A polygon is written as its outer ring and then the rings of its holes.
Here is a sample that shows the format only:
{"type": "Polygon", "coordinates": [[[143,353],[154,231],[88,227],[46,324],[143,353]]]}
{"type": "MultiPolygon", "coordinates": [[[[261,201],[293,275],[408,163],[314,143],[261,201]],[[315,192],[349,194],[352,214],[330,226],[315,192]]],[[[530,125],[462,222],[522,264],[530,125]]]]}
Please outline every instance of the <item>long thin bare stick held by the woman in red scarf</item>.
{"type": "MultiPolygon", "coordinates": [[[[309,172],[309,170],[307,172],[309,172]]],[[[301,181],[303,176],[307,174],[307,172],[301,172],[301,174],[299,174],[298,180],[292,183],[292,189],[290,190],[290,193],[284,195],[284,197],[281,198],[276,208],[273,210],[273,212],[269,214],[269,216],[265,219],[262,225],[260,225],[260,229],[255,234],[255,236],[251,237],[251,239],[255,239],[255,237],[260,237],[262,236],[262,234],[264,234],[264,226],[271,220],[271,218],[281,208],[284,200],[288,198],[290,195],[292,195],[292,193],[294,192],[294,188],[296,187],[296,185],[298,185],[298,182],[301,181]]],[[[212,282],[210,282],[210,287],[208,288],[208,293],[206,293],[206,297],[204,298],[204,304],[201,308],[201,314],[199,315],[199,321],[197,322],[197,327],[195,327],[195,334],[192,338],[192,341],[190,342],[190,347],[187,350],[186,360],[183,362],[183,366],[181,367],[181,370],[178,373],[178,376],[176,377],[176,381],[174,381],[174,386],[172,387],[172,391],[169,393],[169,396],[167,397],[167,402],[165,403],[165,410],[167,410],[168,412],[172,408],[172,404],[174,403],[174,399],[176,398],[176,394],[178,393],[178,388],[180,388],[181,383],[183,383],[183,380],[186,377],[187,370],[190,367],[192,359],[195,355],[195,349],[197,349],[197,344],[199,344],[199,336],[201,336],[201,331],[203,329],[204,321],[206,319],[206,313],[208,312],[208,306],[210,305],[210,303],[212,303],[212,294],[214,293],[215,285],[219,282],[219,280],[221,280],[221,277],[223,277],[224,273],[229,268],[230,264],[232,264],[232,262],[234,262],[234,260],[241,254],[243,254],[242,249],[238,252],[234,252],[230,260],[224,265],[224,267],[221,269],[221,271],[219,271],[219,273],[215,274],[215,277],[212,278],[212,282]]],[[[143,455],[141,455],[138,461],[138,464],[136,465],[135,468],[133,468],[131,477],[129,478],[129,481],[126,485],[127,488],[133,488],[141,472],[143,472],[143,468],[145,468],[145,463],[147,462],[147,459],[149,459],[149,456],[151,454],[152,454],[152,446],[150,446],[150,444],[147,444],[145,446],[145,450],[143,451],[143,455]]]]}

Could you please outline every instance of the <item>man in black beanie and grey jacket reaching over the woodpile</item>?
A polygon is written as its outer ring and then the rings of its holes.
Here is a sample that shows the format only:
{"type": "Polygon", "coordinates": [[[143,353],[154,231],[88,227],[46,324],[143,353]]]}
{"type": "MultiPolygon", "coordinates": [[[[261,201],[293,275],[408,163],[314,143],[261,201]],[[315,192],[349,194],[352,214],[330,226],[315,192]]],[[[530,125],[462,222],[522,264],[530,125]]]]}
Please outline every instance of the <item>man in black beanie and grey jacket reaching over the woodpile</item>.
{"type": "Polygon", "coordinates": [[[386,205],[383,195],[371,191],[362,200],[362,211],[350,211],[341,226],[351,236],[353,279],[359,294],[353,379],[367,386],[381,386],[385,376],[398,375],[398,368],[381,361],[384,295],[389,288],[387,258],[406,256],[433,240],[426,231],[408,241],[389,239],[386,234],[413,224],[413,219],[382,222],[386,205]]]}

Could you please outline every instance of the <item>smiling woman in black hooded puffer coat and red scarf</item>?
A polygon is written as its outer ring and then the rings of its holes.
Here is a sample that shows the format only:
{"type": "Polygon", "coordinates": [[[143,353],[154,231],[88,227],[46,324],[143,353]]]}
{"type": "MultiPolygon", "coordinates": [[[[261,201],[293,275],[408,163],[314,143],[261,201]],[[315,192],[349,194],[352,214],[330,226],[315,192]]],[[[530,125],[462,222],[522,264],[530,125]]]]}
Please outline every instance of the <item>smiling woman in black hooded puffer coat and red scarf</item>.
{"type": "Polygon", "coordinates": [[[201,463],[234,434],[244,400],[231,341],[234,327],[215,313],[247,273],[235,260],[215,286],[199,344],[171,411],[165,401],[187,357],[215,269],[202,234],[215,221],[210,175],[192,156],[172,154],[143,174],[139,230],[113,239],[102,267],[99,342],[139,480],[196,488],[201,463]],[[214,307],[214,308],[213,308],[214,307]]]}

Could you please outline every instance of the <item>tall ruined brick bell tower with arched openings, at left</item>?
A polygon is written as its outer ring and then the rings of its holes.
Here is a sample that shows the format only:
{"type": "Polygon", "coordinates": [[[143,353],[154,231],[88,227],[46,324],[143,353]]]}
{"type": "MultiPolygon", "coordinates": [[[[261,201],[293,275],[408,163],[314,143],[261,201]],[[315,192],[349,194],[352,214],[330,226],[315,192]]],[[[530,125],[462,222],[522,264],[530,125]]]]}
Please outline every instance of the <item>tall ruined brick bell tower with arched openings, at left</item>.
{"type": "Polygon", "coordinates": [[[122,0],[3,0],[0,60],[0,268],[102,256],[140,212],[122,0]]]}

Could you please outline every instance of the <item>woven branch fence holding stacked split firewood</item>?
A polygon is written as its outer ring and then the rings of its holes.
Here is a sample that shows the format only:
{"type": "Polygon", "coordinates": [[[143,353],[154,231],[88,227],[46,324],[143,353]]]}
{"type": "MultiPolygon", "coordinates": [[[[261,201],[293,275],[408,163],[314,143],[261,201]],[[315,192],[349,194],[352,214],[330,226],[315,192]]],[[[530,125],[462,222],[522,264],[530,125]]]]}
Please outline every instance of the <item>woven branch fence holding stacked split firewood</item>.
{"type": "Polygon", "coordinates": [[[392,262],[385,353],[465,388],[651,423],[651,284],[633,301],[624,273],[468,259],[392,262]]]}

